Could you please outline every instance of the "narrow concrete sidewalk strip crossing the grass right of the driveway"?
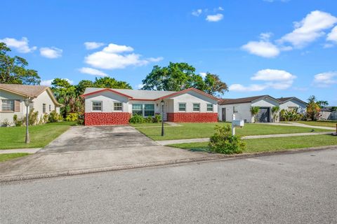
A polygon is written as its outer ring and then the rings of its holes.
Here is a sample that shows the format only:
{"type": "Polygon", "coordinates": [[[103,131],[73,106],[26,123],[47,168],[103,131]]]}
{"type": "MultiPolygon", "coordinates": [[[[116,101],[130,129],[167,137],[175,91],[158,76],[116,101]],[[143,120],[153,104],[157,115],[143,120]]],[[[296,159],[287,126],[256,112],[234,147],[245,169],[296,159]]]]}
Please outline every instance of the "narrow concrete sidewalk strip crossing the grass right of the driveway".
{"type": "MultiPolygon", "coordinates": [[[[265,134],[265,135],[251,135],[242,137],[242,139],[269,139],[269,138],[279,138],[279,137],[296,137],[296,136],[308,136],[317,134],[331,134],[332,132],[310,132],[310,133],[293,133],[293,134],[265,134]]],[[[175,139],[175,140],[163,140],[157,141],[157,144],[161,146],[167,146],[171,144],[182,144],[182,143],[194,143],[194,142],[205,142],[209,141],[209,138],[204,139],[175,139]]]]}

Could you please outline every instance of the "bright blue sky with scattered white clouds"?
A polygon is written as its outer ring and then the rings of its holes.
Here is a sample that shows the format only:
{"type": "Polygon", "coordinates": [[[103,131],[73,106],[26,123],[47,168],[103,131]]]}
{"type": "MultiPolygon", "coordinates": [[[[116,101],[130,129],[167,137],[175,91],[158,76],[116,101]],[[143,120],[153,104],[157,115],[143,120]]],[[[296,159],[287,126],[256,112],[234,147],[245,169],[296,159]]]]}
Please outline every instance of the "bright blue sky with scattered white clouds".
{"type": "Polygon", "coordinates": [[[137,89],[187,62],[224,97],[311,94],[337,106],[337,1],[1,1],[0,41],[44,84],[111,76],[137,89]],[[86,44],[85,44],[86,43],[86,44]]]}

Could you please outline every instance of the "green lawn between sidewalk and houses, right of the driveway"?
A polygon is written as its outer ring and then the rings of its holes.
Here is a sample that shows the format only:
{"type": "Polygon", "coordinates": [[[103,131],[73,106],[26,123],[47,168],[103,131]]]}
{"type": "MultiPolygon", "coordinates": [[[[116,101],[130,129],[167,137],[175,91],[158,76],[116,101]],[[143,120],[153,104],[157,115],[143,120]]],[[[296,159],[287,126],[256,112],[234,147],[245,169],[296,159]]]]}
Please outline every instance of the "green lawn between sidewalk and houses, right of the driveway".
{"type": "MultiPolygon", "coordinates": [[[[136,129],[153,140],[198,139],[211,137],[216,124],[225,125],[226,123],[180,123],[182,126],[171,126],[165,128],[164,137],[161,137],[160,127],[136,127],[136,129]]],[[[248,136],[262,134],[304,133],[310,132],[311,130],[312,128],[308,127],[245,124],[243,128],[237,128],[236,133],[248,136]]],[[[326,130],[315,129],[315,132],[326,132],[326,130]]]]}

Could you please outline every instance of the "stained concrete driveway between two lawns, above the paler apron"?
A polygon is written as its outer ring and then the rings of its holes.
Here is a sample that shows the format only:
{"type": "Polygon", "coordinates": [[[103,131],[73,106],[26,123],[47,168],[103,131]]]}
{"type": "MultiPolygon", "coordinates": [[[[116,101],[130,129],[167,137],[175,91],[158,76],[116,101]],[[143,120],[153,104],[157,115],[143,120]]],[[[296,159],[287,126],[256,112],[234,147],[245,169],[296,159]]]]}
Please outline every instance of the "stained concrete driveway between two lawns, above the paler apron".
{"type": "Polygon", "coordinates": [[[74,126],[38,153],[129,150],[158,144],[131,126],[74,126]]]}

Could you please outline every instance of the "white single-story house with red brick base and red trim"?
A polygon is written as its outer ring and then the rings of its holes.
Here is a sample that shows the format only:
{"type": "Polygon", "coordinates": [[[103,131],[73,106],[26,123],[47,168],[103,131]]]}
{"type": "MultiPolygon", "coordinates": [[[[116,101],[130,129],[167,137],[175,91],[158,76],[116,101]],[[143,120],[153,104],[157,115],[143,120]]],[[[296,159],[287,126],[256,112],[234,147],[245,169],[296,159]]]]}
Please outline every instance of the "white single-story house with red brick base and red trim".
{"type": "Polygon", "coordinates": [[[162,101],[165,121],[218,121],[219,99],[194,88],[173,92],[87,87],[81,97],[85,100],[85,125],[126,125],[134,114],[161,114],[162,101]]]}

